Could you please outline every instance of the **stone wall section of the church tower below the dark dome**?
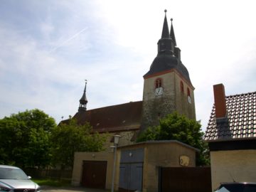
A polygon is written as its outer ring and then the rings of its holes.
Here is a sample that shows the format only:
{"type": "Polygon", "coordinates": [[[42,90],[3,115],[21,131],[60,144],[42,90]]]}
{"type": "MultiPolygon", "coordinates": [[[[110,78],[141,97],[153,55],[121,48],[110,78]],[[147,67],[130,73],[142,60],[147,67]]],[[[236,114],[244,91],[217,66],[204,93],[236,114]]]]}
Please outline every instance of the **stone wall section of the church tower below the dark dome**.
{"type": "Polygon", "coordinates": [[[185,114],[189,119],[196,119],[195,100],[193,86],[182,76],[171,71],[163,75],[147,78],[144,80],[142,129],[159,124],[159,119],[177,111],[185,114]],[[162,95],[155,95],[155,80],[161,78],[164,92],[162,95]],[[181,81],[184,91],[181,92],[181,81]],[[187,89],[190,90],[191,103],[188,102],[187,89]]]}

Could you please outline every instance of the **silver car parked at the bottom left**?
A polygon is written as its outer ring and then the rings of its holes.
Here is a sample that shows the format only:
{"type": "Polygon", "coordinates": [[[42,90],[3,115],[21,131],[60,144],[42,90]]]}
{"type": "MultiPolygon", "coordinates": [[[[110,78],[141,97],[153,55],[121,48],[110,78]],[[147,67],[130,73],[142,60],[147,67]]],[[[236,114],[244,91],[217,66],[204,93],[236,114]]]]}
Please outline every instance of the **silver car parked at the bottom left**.
{"type": "Polygon", "coordinates": [[[0,192],[41,192],[30,178],[16,166],[0,165],[0,192]]]}

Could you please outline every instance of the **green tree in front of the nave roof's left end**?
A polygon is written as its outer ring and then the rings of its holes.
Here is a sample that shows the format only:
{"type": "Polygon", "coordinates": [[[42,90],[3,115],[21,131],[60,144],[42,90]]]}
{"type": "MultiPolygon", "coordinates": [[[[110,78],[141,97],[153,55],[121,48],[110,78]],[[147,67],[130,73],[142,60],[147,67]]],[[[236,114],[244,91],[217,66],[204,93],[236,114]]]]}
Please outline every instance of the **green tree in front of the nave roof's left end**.
{"type": "Polygon", "coordinates": [[[106,134],[92,132],[90,124],[80,125],[75,119],[60,123],[52,132],[53,162],[62,169],[72,168],[75,151],[102,151],[106,134]]]}

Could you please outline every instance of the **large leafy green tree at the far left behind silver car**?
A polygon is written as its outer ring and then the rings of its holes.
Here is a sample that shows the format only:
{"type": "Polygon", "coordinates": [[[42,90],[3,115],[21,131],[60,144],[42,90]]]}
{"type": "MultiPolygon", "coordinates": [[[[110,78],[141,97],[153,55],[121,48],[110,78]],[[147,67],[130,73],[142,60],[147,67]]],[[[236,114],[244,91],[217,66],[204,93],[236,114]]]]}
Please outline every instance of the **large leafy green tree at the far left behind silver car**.
{"type": "Polygon", "coordinates": [[[55,120],[41,110],[0,119],[0,163],[21,167],[50,164],[50,132],[55,120]]]}

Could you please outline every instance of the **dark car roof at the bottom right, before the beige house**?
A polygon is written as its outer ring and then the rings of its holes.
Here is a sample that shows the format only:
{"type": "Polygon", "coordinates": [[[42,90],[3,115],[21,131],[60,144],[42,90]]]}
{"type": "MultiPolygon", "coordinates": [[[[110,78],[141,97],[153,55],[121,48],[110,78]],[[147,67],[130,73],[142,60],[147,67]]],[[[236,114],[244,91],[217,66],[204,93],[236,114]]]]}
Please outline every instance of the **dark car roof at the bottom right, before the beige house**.
{"type": "Polygon", "coordinates": [[[256,183],[220,183],[215,192],[255,192],[256,183]]]}

